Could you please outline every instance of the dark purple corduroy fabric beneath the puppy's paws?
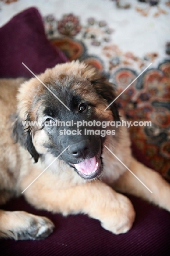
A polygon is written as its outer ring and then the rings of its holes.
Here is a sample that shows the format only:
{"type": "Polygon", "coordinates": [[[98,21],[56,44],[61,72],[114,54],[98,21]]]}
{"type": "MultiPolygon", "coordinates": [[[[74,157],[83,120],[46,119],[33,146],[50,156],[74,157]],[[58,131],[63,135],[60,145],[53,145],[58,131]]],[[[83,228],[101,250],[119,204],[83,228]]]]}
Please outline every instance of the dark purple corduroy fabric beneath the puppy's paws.
{"type": "Polygon", "coordinates": [[[35,210],[22,197],[13,199],[5,205],[5,210],[46,216],[54,222],[55,230],[40,241],[0,240],[0,255],[169,255],[169,213],[134,196],[129,198],[136,210],[136,220],[132,229],[121,235],[104,230],[98,220],[83,214],[63,217],[35,210]]]}

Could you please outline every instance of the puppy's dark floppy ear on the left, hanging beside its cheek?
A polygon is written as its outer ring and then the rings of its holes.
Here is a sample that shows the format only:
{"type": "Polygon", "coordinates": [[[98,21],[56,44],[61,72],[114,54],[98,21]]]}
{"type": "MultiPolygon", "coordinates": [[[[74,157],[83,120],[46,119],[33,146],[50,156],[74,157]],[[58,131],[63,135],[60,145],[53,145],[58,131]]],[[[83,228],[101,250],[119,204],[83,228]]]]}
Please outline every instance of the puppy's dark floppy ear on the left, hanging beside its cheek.
{"type": "MultiPolygon", "coordinates": [[[[14,117],[13,117],[14,119],[14,117]]],[[[28,121],[28,119],[27,119],[28,121]]],[[[32,155],[35,162],[38,162],[39,154],[32,143],[31,127],[24,126],[19,117],[15,116],[11,136],[15,143],[19,142],[32,155]]]]}

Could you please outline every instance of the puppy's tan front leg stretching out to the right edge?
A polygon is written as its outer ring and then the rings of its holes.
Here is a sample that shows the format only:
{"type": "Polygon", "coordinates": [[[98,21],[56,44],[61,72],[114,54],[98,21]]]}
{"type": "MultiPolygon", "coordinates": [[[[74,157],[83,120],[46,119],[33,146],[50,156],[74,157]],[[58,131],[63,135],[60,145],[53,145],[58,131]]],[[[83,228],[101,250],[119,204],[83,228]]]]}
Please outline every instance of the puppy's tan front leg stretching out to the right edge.
{"type": "Polygon", "coordinates": [[[132,159],[130,170],[153,193],[150,193],[128,170],[114,183],[114,189],[142,197],[170,211],[170,184],[159,173],[144,166],[136,159],[132,159]]]}

